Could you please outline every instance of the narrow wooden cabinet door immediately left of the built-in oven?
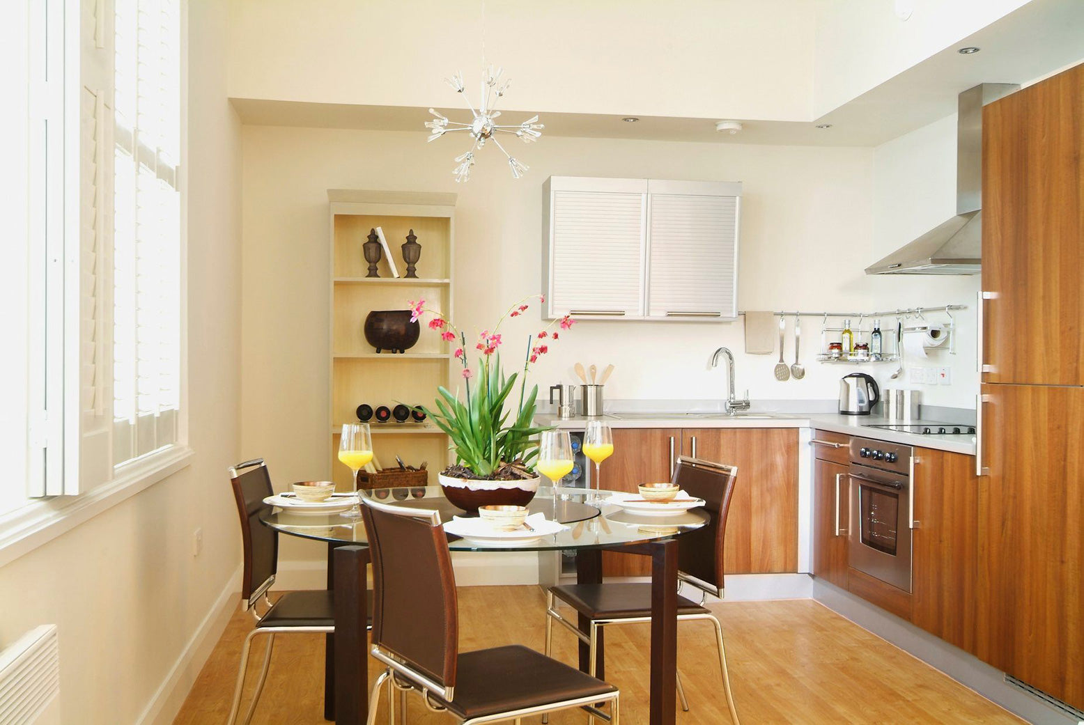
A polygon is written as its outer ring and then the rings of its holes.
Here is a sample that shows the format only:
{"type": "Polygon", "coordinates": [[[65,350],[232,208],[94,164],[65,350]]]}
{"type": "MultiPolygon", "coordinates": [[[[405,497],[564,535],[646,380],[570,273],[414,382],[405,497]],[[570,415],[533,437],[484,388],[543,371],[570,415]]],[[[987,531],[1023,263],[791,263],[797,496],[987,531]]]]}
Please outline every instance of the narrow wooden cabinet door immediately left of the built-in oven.
{"type": "Polygon", "coordinates": [[[813,463],[813,574],[846,590],[850,478],[843,464],[813,463]]]}

